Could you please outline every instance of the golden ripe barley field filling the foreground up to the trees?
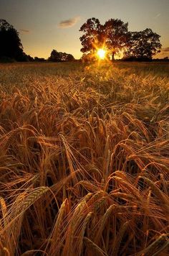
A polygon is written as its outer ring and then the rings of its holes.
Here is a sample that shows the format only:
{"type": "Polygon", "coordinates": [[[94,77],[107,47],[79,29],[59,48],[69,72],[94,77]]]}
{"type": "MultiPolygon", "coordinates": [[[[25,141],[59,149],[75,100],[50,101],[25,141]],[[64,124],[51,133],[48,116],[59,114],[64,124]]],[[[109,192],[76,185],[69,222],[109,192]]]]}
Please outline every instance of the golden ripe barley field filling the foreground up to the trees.
{"type": "Polygon", "coordinates": [[[0,255],[168,255],[169,65],[0,65],[0,255]]]}

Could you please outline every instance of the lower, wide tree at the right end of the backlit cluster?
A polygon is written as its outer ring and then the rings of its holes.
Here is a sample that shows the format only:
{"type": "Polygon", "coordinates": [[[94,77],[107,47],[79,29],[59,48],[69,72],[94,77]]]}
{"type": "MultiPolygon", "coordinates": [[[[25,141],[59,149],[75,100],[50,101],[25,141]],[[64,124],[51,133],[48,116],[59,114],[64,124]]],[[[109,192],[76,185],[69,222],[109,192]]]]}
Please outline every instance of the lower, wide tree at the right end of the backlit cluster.
{"type": "Polygon", "coordinates": [[[153,55],[160,52],[160,35],[145,29],[140,32],[130,32],[130,47],[125,52],[125,58],[151,60],[153,55]]]}

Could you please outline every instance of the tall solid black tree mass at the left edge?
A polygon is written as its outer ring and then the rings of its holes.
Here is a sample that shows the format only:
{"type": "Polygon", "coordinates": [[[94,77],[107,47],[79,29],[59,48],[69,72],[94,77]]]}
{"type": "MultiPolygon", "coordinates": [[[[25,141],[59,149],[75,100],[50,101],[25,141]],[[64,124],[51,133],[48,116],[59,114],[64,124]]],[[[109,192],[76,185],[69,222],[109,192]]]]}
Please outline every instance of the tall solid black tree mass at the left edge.
{"type": "Polygon", "coordinates": [[[0,58],[2,57],[26,60],[19,33],[5,19],[0,19],[0,58]]]}

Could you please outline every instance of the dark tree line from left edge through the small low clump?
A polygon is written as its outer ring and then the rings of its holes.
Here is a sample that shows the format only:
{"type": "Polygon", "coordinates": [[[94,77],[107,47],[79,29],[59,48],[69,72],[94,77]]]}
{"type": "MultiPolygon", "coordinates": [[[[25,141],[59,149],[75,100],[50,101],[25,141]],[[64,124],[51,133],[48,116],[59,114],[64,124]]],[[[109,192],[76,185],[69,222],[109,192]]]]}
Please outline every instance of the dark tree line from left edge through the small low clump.
{"type": "MultiPolygon", "coordinates": [[[[49,61],[62,62],[74,60],[73,55],[66,52],[57,52],[52,50],[49,61]]],[[[6,22],[5,19],[0,19],[0,61],[46,61],[44,58],[32,57],[26,55],[19,38],[19,32],[14,27],[6,22]]]]}

